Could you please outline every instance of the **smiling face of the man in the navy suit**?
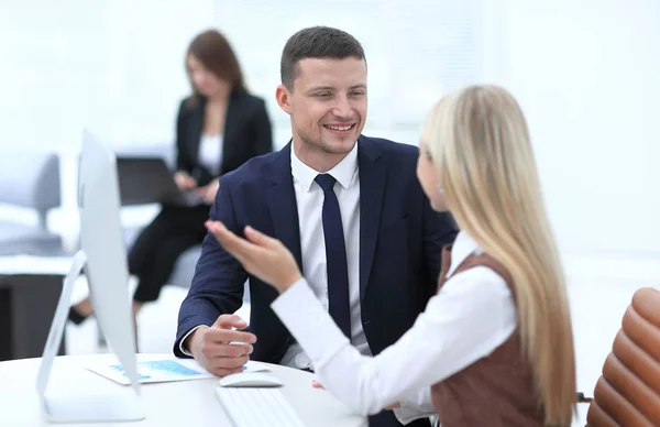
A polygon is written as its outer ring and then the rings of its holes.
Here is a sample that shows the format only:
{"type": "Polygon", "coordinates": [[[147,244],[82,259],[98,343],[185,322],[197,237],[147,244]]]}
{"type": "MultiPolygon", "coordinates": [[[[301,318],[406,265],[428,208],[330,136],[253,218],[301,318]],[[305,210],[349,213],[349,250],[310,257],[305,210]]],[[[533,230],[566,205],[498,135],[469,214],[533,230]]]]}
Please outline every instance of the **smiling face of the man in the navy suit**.
{"type": "Polygon", "coordinates": [[[294,90],[278,88],[280,107],[290,114],[294,141],[304,150],[345,155],[366,119],[364,59],[306,58],[298,63],[294,90]]]}

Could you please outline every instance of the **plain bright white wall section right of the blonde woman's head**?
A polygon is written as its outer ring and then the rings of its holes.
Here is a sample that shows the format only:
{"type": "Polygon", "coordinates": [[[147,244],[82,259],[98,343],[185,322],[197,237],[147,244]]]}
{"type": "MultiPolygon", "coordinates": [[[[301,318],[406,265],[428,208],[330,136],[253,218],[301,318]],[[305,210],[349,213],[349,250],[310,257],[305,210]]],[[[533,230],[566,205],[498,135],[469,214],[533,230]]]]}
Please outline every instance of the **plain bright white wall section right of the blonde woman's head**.
{"type": "Polygon", "coordinates": [[[564,253],[660,261],[660,2],[502,4],[501,79],[564,253]]]}

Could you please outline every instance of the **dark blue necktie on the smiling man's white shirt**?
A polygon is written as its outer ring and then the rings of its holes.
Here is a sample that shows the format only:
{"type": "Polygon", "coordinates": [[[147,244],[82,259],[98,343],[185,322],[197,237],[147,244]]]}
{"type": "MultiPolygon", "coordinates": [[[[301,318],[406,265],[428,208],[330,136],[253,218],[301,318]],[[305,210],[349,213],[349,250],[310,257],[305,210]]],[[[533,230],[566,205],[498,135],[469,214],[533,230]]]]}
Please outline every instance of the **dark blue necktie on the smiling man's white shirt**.
{"type": "Polygon", "coordinates": [[[351,305],[349,303],[349,266],[346,247],[339,201],[333,187],[332,175],[319,174],[317,184],[323,189],[323,234],[326,237],[326,263],[328,264],[328,304],[330,316],[351,339],[351,305]]]}

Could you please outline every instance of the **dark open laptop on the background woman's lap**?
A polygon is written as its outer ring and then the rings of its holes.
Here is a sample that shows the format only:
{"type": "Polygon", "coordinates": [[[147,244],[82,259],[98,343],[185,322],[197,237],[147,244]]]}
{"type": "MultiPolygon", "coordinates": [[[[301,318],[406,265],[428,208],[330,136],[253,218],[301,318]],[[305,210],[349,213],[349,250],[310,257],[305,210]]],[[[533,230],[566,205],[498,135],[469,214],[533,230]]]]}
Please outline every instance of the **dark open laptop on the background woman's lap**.
{"type": "Polygon", "coordinates": [[[162,157],[117,157],[117,175],[122,206],[162,204],[202,205],[195,190],[178,189],[172,171],[162,157]]]}

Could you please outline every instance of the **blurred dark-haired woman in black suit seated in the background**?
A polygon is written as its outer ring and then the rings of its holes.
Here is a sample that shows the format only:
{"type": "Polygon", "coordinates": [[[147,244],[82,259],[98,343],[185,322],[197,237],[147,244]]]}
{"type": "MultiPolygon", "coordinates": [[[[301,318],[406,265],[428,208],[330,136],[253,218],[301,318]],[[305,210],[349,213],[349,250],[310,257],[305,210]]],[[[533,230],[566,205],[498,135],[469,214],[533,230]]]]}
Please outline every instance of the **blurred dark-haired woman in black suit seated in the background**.
{"type": "MultiPolygon", "coordinates": [[[[219,176],[273,150],[265,103],[248,92],[222,34],[209,30],[197,35],[186,54],[186,70],[193,95],[182,101],[176,121],[175,180],[179,189],[195,191],[199,204],[163,206],[132,245],[129,270],[139,280],[134,317],[144,303],[158,298],[177,258],[204,240],[219,176]]],[[[80,324],[91,314],[87,298],[72,307],[69,319],[80,324]]]]}

